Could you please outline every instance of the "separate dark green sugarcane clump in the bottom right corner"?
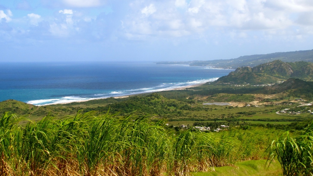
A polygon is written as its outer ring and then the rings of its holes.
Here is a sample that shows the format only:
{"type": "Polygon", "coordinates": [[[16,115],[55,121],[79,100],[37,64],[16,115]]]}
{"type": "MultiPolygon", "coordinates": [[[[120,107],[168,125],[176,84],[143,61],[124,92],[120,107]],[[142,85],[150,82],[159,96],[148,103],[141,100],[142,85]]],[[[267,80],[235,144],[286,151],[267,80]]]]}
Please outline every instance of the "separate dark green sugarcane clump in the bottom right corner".
{"type": "Polygon", "coordinates": [[[269,164],[277,158],[284,175],[313,175],[313,121],[301,131],[278,136],[268,150],[269,164]]]}

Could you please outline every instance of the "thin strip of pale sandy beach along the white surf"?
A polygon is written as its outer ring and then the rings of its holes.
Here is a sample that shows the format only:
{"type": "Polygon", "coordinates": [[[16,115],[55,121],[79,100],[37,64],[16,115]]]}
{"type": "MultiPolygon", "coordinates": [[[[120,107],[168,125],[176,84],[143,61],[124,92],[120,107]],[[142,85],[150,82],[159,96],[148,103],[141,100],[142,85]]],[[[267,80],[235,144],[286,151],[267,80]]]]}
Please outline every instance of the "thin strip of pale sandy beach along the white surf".
{"type": "MultiPolygon", "coordinates": [[[[205,83],[199,83],[199,84],[192,84],[189,86],[183,86],[183,87],[179,87],[179,88],[170,88],[170,89],[166,89],[166,90],[162,90],[162,91],[170,91],[170,90],[185,90],[186,88],[192,88],[192,87],[198,87],[201,86],[205,83]]],[[[147,93],[156,93],[156,92],[161,92],[161,91],[152,91],[152,92],[147,92],[147,93]]],[[[142,93],[136,93],[136,94],[131,94],[131,95],[122,95],[122,96],[112,96],[113,98],[127,98],[130,96],[136,96],[142,93]]],[[[110,98],[110,97],[107,97],[110,98]]],[[[48,106],[48,105],[55,105],[55,104],[68,104],[68,103],[80,103],[80,102],[87,102],[87,101],[91,101],[91,100],[99,100],[99,99],[106,99],[106,98],[90,98],[88,100],[80,100],[80,101],[71,101],[71,102],[66,102],[66,103],[49,103],[49,104],[43,104],[43,105],[35,105],[35,106],[48,106]]]]}

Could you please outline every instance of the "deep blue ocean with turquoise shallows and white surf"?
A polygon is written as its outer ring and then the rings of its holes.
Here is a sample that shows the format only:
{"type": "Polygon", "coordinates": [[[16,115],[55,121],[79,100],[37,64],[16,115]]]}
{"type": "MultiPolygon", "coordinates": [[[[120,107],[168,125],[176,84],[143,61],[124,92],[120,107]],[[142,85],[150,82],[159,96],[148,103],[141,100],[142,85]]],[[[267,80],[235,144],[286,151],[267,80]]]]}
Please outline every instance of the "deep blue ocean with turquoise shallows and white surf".
{"type": "Polygon", "coordinates": [[[233,70],[156,63],[0,63],[0,101],[34,105],[162,91],[214,81],[233,70]]]}

